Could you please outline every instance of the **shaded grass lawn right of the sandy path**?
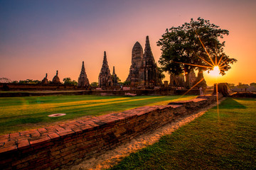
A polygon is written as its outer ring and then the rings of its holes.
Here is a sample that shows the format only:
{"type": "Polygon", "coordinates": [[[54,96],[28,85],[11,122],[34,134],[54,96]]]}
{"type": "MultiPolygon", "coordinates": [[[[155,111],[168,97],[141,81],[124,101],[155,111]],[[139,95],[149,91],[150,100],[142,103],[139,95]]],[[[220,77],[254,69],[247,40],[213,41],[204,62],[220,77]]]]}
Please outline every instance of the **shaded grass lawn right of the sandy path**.
{"type": "Polygon", "coordinates": [[[112,169],[256,169],[256,100],[227,98],[112,169]]]}

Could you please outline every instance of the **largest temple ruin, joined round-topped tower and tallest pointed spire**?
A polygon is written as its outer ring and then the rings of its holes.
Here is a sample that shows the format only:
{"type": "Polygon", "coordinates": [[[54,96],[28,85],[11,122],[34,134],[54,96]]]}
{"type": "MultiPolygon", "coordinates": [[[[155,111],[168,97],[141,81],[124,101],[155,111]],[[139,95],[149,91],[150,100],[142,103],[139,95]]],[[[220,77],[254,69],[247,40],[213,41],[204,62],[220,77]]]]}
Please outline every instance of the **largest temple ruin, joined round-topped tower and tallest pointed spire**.
{"type": "Polygon", "coordinates": [[[132,65],[127,81],[131,81],[132,85],[138,86],[159,86],[162,84],[161,74],[149,44],[149,36],[146,36],[144,54],[139,42],[136,42],[132,48],[132,65]]]}

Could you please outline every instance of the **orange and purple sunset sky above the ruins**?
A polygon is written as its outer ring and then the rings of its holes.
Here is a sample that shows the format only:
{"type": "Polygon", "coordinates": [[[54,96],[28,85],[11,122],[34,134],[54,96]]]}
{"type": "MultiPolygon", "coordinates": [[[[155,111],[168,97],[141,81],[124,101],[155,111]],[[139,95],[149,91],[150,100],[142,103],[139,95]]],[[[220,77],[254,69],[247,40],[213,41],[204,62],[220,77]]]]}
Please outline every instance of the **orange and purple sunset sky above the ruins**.
{"type": "MultiPolygon", "coordinates": [[[[166,28],[181,26],[190,18],[210,20],[230,31],[225,53],[238,60],[215,81],[256,82],[256,2],[245,1],[0,1],[0,77],[42,80],[56,70],[62,80],[78,81],[82,61],[90,81],[97,81],[107,52],[112,72],[125,81],[132,47],[144,48],[149,35],[155,60],[161,56],[156,41],[166,28]]],[[[169,77],[166,77],[169,81],[169,77]]]]}

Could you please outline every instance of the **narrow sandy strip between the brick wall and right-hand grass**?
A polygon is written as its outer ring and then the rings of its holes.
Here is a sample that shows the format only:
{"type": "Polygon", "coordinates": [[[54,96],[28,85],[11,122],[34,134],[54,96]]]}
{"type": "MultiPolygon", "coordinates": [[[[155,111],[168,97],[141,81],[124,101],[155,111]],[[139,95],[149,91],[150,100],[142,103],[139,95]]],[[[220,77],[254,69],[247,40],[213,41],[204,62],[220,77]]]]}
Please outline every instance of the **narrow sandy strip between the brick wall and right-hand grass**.
{"type": "MultiPolygon", "coordinates": [[[[219,103],[225,98],[220,99],[219,103]]],[[[133,152],[137,152],[139,149],[142,149],[148,145],[153,145],[155,142],[158,142],[160,137],[163,135],[171,134],[178,128],[187,123],[190,123],[194,119],[206,113],[209,108],[216,106],[216,103],[199,110],[197,113],[192,115],[187,115],[183,118],[178,118],[174,122],[166,124],[161,128],[154,130],[153,132],[146,133],[141,135],[133,140],[116,147],[115,149],[108,150],[103,152],[99,157],[92,157],[91,159],[86,159],[78,165],[72,166],[71,170],[84,170],[84,169],[107,169],[117,164],[122,158],[127,157],[133,152]]]]}

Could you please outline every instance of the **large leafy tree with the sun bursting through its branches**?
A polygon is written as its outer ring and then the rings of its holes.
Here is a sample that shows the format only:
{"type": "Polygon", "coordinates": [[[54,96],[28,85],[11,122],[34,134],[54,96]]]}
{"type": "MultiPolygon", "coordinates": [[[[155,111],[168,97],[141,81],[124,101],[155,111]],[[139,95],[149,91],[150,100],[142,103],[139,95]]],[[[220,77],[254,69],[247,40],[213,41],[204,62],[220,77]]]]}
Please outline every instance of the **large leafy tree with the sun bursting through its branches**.
{"type": "Polygon", "coordinates": [[[166,33],[157,42],[161,46],[162,55],[159,59],[161,69],[170,74],[186,75],[186,86],[189,87],[188,74],[192,69],[199,71],[221,66],[221,74],[230,69],[230,64],[237,60],[223,52],[225,42],[219,38],[228,35],[228,30],[220,29],[208,20],[198,18],[182,26],[166,29],[166,33]]]}

